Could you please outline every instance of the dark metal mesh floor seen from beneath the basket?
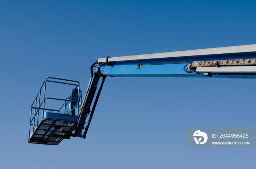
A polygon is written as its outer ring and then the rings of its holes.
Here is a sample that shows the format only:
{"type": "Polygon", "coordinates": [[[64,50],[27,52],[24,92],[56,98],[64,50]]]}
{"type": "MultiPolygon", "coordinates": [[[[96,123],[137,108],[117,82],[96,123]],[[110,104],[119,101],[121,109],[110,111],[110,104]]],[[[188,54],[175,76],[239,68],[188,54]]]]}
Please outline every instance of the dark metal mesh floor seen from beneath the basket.
{"type": "Polygon", "coordinates": [[[69,133],[76,126],[76,122],[56,119],[43,119],[31,133],[29,143],[58,145],[64,138],[69,139],[69,133]]]}

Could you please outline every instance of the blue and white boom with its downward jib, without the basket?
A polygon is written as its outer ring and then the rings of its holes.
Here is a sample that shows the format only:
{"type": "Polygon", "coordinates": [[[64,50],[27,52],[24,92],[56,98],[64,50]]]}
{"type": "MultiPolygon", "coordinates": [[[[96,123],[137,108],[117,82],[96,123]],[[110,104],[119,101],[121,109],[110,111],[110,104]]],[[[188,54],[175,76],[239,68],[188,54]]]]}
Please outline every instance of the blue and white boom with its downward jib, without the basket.
{"type": "Polygon", "coordinates": [[[74,137],[86,137],[106,76],[256,78],[256,45],[98,59],[84,96],[74,137]],[[101,77],[101,85],[94,99],[101,77]],[[83,128],[85,131],[82,133],[83,128]]]}

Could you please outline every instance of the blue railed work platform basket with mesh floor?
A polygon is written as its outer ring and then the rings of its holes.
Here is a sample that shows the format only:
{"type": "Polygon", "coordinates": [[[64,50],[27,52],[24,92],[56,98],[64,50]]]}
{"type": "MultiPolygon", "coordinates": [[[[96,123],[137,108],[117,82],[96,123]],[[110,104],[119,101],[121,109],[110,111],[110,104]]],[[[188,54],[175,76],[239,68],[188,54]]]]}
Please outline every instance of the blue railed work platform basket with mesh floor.
{"type": "Polygon", "coordinates": [[[45,78],[31,105],[28,142],[58,145],[64,138],[69,139],[77,127],[81,96],[78,81],[45,78]]]}

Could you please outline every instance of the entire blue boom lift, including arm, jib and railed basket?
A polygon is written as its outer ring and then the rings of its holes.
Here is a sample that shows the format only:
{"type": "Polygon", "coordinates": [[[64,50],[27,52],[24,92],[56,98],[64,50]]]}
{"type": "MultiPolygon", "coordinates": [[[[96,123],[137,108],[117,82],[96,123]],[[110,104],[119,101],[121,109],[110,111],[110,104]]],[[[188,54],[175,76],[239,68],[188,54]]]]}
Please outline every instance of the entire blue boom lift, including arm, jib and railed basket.
{"type": "Polygon", "coordinates": [[[85,139],[107,76],[256,78],[256,45],[100,58],[91,66],[83,101],[78,81],[48,77],[31,105],[29,143],[58,145],[64,138],[85,139]],[[46,82],[75,88],[66,99],[46,97],[46,82]],[[49,109],[46,99],[64,103],[59,109],[49,109]],[[40,113],[42,117],[38,120],[40,113]]]}

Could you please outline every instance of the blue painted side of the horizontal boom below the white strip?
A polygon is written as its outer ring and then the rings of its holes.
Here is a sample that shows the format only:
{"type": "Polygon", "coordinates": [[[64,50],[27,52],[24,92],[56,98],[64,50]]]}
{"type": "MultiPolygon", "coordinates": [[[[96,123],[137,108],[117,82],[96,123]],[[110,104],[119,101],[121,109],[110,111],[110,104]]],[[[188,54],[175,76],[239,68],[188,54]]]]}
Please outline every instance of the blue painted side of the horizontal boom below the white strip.
{"type": "MultiPolygon", "coordinates": [[[[207,77],[202,73],[187,73],[183,68],[193,61],[256,58],[256,53],[208,55],[204,57],[179,57],[165,59],[145,59],[137,61],[111,62],[100,64],[102,74],[112,77],[207,77]],[[139,66],[137,66],[139,64],[139,66]]],[[[221,74],[212,77],[256,78],[254,75],[221,74]]]]}

